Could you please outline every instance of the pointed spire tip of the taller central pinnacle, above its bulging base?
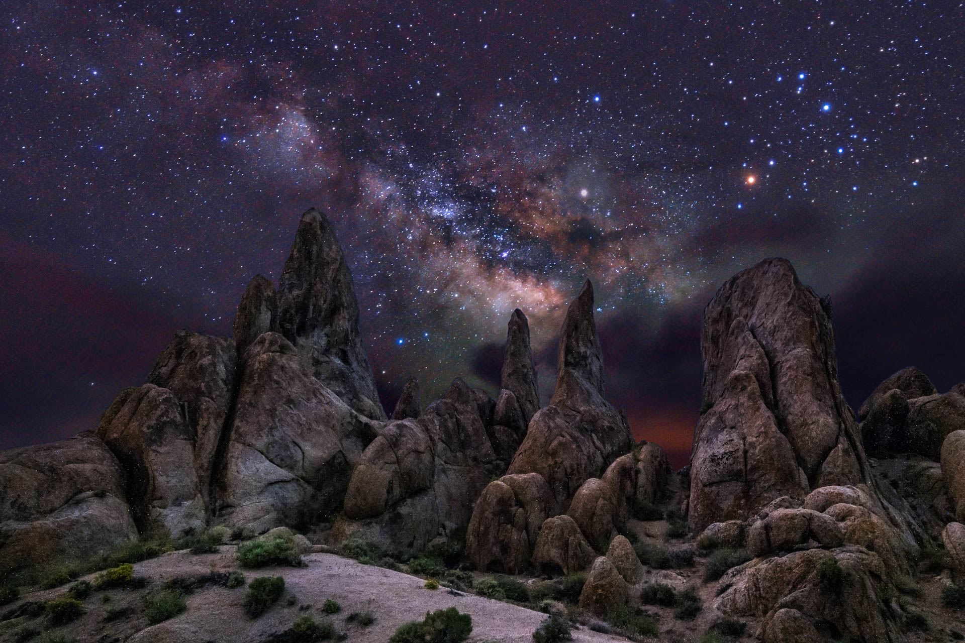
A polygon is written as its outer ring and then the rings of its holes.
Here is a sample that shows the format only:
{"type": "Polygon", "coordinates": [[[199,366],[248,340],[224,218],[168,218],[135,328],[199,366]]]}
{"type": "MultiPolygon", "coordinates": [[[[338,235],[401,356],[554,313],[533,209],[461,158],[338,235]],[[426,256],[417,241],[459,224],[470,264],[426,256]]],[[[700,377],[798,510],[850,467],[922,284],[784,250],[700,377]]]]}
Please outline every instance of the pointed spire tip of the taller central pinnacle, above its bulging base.
{"type": "Polygon", "coordinates": [[[565,371],[579,376],[603,393],[603,354],[600,350],[596,321],[593,319],[593,283],[587,280],[566,309],[560,330],[560,352],[557,357],[557,388],[565,379],[565,371]]]}

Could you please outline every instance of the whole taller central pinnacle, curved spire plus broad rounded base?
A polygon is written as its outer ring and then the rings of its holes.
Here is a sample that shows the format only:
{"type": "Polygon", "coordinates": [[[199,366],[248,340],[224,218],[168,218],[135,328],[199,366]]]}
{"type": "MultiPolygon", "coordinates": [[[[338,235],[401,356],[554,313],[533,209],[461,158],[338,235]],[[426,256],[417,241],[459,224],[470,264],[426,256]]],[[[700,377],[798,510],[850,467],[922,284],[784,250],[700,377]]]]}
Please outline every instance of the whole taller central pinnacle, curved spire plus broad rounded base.
{"type": "Polygon", "coordinates": [[[564,513],[576,490],[598,477],[633,443],[626,418],[603,399],[603,359],[593,321],[590,281],[566,310],[556,391],[530,421],[510,473],[539,473],[564,513]]]}

